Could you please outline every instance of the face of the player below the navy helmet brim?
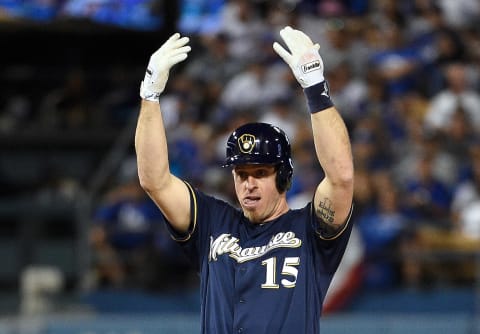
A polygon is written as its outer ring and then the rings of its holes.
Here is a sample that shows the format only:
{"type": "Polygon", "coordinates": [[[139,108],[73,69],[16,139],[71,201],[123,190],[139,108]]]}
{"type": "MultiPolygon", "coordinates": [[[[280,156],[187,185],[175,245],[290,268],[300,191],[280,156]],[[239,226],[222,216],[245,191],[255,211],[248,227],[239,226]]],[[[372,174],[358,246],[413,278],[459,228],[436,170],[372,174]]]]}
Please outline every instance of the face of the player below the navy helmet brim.
{"type": "Polygon", "coordinates": [[[288,211],[285,193],[275,184],[275,167],[240,165],[233,169],[235,192],[244,215],[254,223],[263,223],[288,211]]]}

